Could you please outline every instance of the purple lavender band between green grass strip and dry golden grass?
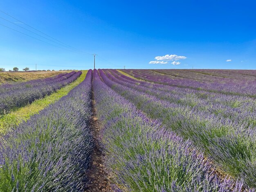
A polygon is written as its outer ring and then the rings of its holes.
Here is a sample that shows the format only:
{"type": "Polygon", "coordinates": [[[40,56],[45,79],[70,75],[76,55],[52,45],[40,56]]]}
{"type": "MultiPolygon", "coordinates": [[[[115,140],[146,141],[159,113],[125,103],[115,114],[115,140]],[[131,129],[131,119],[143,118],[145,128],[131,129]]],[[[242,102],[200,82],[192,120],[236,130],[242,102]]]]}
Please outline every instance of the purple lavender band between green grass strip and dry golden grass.
{"type": "Polygon", "coordinates": [[[32,83],[14,84],[6,86],[0,93],[0,114],[8,113],[11,109],[22,107],[34,100],[44,98],[56,90],[68,85],[82,74],[81,71],[58,75],[55,78],[34,80],[32,83]]]}

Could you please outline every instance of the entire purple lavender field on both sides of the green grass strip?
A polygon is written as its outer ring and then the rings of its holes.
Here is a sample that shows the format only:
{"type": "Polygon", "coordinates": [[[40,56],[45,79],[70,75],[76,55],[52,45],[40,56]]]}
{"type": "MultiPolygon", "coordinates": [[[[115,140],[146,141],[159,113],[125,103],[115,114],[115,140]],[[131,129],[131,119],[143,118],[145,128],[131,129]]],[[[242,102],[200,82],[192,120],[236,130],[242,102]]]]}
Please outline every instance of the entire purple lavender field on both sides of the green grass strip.
{"type": "MultiPolygon", "coordinates": [[[[0,112],[81,73],[0,85],[0,112]]],[[[0,191],[254,192],[255,98],[254,70],[90,69],[0,136],[0,191]]]]}

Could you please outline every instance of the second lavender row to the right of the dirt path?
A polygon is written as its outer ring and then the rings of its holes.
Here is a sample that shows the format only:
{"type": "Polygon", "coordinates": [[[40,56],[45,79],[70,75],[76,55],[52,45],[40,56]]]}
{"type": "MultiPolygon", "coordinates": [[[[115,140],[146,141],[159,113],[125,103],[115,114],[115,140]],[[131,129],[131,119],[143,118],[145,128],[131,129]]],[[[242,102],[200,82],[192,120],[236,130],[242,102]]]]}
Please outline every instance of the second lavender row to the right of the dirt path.
{"type": "MultiPolygon", "coordinates": [[[[99,72],[109,87],[131,100],[150,117],[158,118],[168,128],[185,138],[190,138],[195,145],[205,150],[207,156],[218,167],[236,178],[245,179],[247,185],[255,187],[256,145],[253,123],[243,119],[232,121],[220,114],[199,111],[196,107],[180,105],[178,102],[169,103],[135,88],[140,85],[121,83],[121,80],[115,80],[107,72],[108,77],[103,71],[99,70],[99,72]]],[[[155,87],[149,90],[152,89],[155,87]]],[[[246,114],[249,113],[245,112],[245,116],[246,114]]],[[[252,119],[253,117],[252,113],[252,119]]]]}

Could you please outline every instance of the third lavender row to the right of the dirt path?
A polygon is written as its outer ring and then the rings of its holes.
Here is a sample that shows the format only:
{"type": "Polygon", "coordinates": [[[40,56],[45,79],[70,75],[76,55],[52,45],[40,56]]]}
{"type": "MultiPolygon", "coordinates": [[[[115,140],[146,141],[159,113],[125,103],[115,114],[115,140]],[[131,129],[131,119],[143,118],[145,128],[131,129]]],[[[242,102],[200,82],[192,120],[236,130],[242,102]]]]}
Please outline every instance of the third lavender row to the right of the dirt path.
{"type": "Polygon", "coordinates": [[[161,100],[179,104],[182,108],[189,107],[188,111],[196,109],[207,112],[207,114],[216,114],[221,118],[239,121],[247,127],[256,125],[256,103],[253,98],[221,93],[209,94],[203,90],[152,84],[129,78],[114,69],[104,69],[104,72],[109,78],[122,85],[153,95],[161,100]]]}

